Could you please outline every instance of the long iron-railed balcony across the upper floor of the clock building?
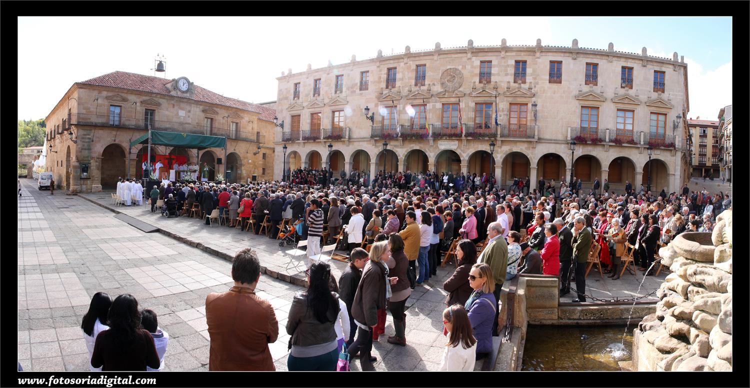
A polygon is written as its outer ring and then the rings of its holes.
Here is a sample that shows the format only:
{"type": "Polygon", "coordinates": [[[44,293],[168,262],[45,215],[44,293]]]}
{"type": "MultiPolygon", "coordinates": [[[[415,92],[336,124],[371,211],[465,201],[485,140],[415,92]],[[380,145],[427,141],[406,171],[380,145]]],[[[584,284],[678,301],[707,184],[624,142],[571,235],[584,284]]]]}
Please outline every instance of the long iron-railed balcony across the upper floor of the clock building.
{"type": "Polygon", "coordinates": [[[123,117],[121,115],[95,115],[90,113],[71,113],[69,115],[71,125],[95,125],[98,127],[127,128],[148,131],[168,131],[184,134],[201,134],[227,139],[245,140],[254,143],[266,143],[265,136],[258,136],[257,132],[232,131],[229,128],[206,128],[205,125],[187,124],[184,122],[165,122],[134,117],[123,117]]]}

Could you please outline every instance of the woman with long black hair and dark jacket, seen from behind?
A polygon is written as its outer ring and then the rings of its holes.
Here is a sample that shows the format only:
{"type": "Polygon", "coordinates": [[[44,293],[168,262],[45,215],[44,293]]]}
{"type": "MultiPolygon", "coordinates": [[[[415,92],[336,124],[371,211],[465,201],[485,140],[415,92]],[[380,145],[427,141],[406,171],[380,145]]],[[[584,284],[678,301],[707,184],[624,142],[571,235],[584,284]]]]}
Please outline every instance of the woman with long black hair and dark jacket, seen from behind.
{"type": "Polygon", "coordinates": [[[338,294],[331,292],[331,266],[316,262],[310,267],[308,290],[298,293],[289,310],[287,334],[290,341],[287,367],[290,371],[335,371],[338,338],[335,323],[339,314],[338,294]]]}

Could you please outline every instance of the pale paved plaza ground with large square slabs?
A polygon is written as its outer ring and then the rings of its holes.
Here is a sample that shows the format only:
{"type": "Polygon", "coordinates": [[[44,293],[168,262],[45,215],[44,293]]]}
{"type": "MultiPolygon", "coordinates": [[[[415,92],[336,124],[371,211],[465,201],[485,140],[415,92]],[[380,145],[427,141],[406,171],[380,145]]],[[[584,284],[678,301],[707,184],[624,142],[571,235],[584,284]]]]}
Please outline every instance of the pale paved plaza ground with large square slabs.
{"type": "MultiPolygon", "coordinates": [[[[141,308],[158,314],[159,326],[169,333],[166,370],[208,370],[208,332],[205,296],[233,284],[232,257],[242,248],[259,252],[261,264],[279,274],[299,275],[304,252],[278,246],[278,241],[225,226],[208,227],[195,218],[164,218],[147,206],[117,206],[116,210],[152,224],[163,233],[143,233],[115,218],[107,208],[110,193],[66,196],[37,191],[22,179],[18,211],[18,359],[24,370],[86,371],[88,353],[80,323],[91,297],[98,291],[118,296],[130,293],[141,308]],[[92,203],[92,201],[96,203],[92,203]],[[104,207],[103,207],[104,206],[104,207]],[[167,235],[169,236],[167,236],[167,235]],[[179,237],[178,238],[173,238],[179,237]],[[293,257],[299,254],[298,257],[293,257]]],[[[338,278],[345,263],[332,260],[338,278]]],[[[393,335],[388,315],[386,335],[374,343],[380,371],[433,371],[443,357],[443,281],[453,267],[438,269],[427,287],[417,287],[407,301],[407,347],[386,342],[393,335]]],[[[283,276],[281,276],[283,278],[283,276]]],[[[664,278],[649,277],[640,294],[658,287],[664,278]]],[[[600,280],[592,272],[591,293],[598,297],[628,296],[637,290],[626,274],[619,281],[600,280]],[[618,283],[619,282],[619,283],[618,283]]],[[[270,344],[277,370],[287,369],[287,314],[296,284],[262,275],[257,294],[275,307],[280,336],[270,344]]],[[[564,301],[564,300],[563,300],[564,301]]],[[[359,362],[352,363],[353,370],[359,362]]],[[[481,363],[477,364],[477,368],[481,363]]]]}

